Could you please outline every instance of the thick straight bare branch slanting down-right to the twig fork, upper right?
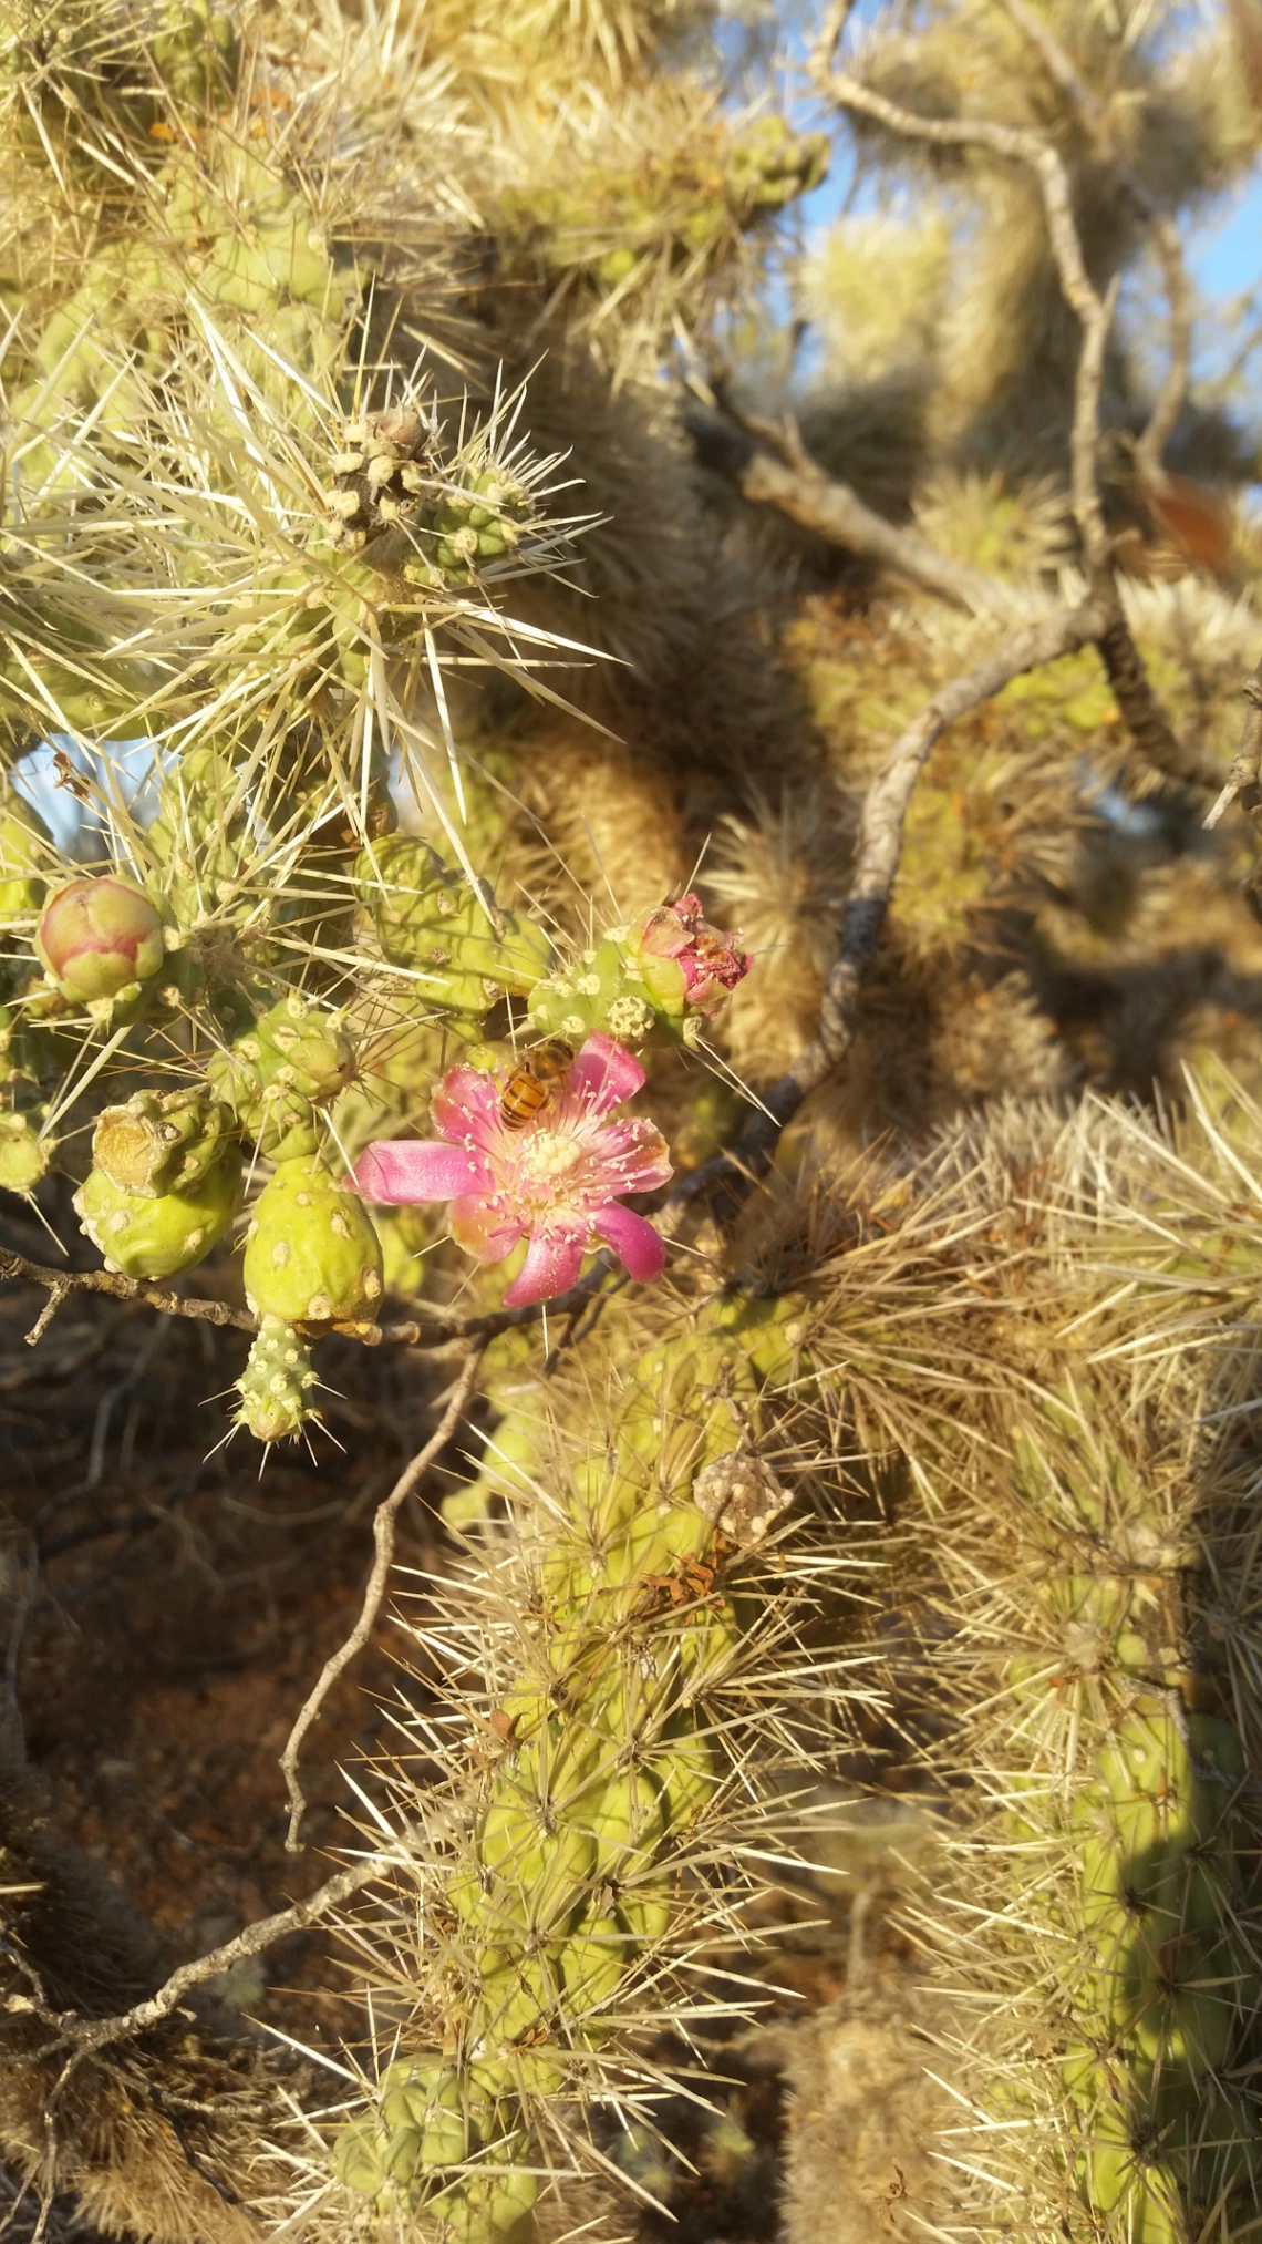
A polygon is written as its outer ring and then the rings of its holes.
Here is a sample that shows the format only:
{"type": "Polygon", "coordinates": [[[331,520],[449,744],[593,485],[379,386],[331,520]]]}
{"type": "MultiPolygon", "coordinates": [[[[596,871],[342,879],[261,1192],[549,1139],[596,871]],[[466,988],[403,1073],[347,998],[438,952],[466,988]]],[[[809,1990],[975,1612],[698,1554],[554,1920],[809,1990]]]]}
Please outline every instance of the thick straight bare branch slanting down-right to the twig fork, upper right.
{"type": "Polygon", "coordinates": [[[832,545],[845,545],[865,561],[879,561],[890,574],[948,599],[953,608],[986,613],[1002,608],[1011,597],[997,579],[948,561],[912,530],[897,530],[865,507],[859,491],[811,460],[791,424],[776,429],[753,413],[742,413],[722,388],[717,402],[724,417],[693,411],[688,433],[702,465],[724,473],[751,505],[778,507],[802,530],[829,539],[832,545]]]}

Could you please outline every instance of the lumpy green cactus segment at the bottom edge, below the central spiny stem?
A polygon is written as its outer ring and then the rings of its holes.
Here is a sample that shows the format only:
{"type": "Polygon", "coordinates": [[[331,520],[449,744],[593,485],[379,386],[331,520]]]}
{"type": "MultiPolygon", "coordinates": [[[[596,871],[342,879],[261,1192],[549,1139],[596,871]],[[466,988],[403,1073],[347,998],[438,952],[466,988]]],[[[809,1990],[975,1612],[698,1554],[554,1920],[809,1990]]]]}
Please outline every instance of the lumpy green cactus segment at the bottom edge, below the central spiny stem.
{"type": "Polygon", "coordinates": [[[424,2210],[453,2244],[529,2244],[538,2179],[520,2105],[500,2071],[442,2058],[390,2064],[377,2112],[336,2139],[338,2181],[381,2208],[424,2210]]]}

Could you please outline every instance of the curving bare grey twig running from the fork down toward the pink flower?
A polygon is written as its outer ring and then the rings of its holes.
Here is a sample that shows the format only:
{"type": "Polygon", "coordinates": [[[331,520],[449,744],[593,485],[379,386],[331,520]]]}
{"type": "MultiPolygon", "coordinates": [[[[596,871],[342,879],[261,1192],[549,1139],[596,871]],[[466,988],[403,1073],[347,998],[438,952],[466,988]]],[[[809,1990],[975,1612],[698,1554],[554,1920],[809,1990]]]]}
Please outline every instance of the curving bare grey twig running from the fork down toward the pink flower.
{"type": "Polygon", "coordinates": [[[885,925],[899,871],[903,819],[915,783],[939,734],[966,716],[968,709],[1000,693],[1022,671],[1040,669],[1045,662],[1056,662],[1060,655],[1089,646],[1101,635],[1103,624],[1105,606],[1101,601],[1063,608],[1040,624],[1031,624],[1029,631],[1015,633],[1006,646],[966,671],[964,678],[955,678],[941,687],[908,729],[899,734],[863,801],[841,951],[827,978],[816,1037],[780,1082],[764,1093],[762,1111],[753,1115],[737,1144],[679,1178],[668,1203],[668,1227],[681,1218],[690,1203],[713,1198],[720,1189],[724,1198],[740,1201],[749,1185],[771,1167],[780,1131],[796,1115],[802,1100],[823,1084],[825,1075],[850,1050],[859,994],[885,925]]]}

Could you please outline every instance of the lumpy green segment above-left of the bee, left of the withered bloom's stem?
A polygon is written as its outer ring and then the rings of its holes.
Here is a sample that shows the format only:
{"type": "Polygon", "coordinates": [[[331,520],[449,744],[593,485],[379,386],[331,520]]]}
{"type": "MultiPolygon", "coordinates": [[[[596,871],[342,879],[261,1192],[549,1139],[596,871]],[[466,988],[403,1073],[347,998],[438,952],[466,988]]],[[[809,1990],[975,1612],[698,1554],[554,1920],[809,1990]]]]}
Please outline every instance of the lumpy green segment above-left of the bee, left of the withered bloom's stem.
{"type": "Polygon", "coordinates": [[[484,1014],[498,996],[533,990],[551,965],[551,945],[533,920],[500,911],[486,886],[410,835],[388,835],[354,864],[356,893],[383,956],[417,976],[424,996],[464,1014],[484,1014]]]}

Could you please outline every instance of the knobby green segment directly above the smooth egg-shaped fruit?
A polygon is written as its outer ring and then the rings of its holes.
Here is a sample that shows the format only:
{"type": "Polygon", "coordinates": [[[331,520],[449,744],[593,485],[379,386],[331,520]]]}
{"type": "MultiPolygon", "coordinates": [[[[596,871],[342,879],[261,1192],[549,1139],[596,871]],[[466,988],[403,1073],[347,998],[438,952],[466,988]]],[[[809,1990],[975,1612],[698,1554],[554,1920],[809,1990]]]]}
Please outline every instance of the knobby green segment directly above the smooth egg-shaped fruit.
{"type": "Polygon", "coordinates": [[[296,990],[260,1014],[206,1077],[240,1129],[269,1160],[316,1151],[316,1113],[332,1106],[354,1075],[343,1017],[307,1005],[296,990]]]}

